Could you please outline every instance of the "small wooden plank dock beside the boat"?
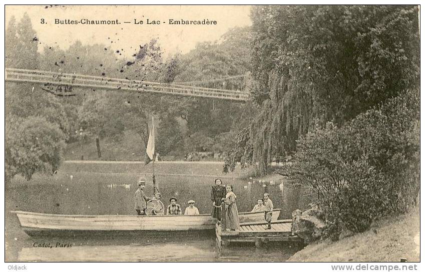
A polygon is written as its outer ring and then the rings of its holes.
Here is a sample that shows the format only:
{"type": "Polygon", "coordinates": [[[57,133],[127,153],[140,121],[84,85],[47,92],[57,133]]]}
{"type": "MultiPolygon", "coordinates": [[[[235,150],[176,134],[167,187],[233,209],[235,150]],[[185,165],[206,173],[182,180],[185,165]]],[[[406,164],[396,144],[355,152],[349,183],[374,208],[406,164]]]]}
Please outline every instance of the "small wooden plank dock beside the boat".
{"type": "Polygon", "coordinates": [[[224,231],[222,225],[216,224],[216,244],[221,249],[232,242],[254,242],[256,247],[269,241],[303,243],[302,238],[292,235],[291,224],[292,219],[276,220],[271,223],[271,229],[265,229],[266,222],[241,223],[236,231],[224,231]]]}

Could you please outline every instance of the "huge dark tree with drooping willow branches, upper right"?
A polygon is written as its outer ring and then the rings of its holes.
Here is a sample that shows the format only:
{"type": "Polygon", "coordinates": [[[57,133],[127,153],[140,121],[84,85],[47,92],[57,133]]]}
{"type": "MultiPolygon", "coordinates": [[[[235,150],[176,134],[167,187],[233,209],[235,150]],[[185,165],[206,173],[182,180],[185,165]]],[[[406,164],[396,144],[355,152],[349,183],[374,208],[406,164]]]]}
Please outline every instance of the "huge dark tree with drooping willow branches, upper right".
{"type": "Polygon", "coordinates": [[[295,151],[313,123],[341,125],[418,86],[416,6],[254,6],[253,162],[295,151]]]}

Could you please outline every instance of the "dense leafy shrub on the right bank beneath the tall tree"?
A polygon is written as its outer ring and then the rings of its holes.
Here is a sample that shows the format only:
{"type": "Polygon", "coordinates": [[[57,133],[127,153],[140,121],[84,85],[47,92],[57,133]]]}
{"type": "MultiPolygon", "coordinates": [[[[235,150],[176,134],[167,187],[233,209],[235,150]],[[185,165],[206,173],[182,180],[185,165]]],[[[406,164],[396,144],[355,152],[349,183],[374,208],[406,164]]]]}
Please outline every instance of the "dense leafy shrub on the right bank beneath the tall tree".
{"type": "Polygon", "coordinates": [[[419,93],[409,90],[337,127],[318,125],[297,142],[289,174],[317,190],[326,235],[364,231],[405,212],[419,193],[419,93]]]}

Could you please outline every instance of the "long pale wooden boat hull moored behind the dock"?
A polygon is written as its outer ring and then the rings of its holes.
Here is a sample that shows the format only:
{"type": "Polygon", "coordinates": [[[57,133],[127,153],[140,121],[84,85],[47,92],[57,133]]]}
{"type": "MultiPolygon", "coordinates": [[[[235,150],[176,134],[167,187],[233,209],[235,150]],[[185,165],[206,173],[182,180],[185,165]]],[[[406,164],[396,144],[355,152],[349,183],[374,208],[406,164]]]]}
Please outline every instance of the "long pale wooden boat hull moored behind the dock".
{"type": "MultiPolygon", "coordinates": [[[[281,209],[274,209],[277,220],[281,209]]],[[[187,231],[214,230],[211,214],[200,215],[74,215],[13,210],[24,231],[29,235],[49,232],[114,232],[114,231],[187,231]]],[[[264,221],[264,212],[240,212],[239,221],[264,221]]]]}

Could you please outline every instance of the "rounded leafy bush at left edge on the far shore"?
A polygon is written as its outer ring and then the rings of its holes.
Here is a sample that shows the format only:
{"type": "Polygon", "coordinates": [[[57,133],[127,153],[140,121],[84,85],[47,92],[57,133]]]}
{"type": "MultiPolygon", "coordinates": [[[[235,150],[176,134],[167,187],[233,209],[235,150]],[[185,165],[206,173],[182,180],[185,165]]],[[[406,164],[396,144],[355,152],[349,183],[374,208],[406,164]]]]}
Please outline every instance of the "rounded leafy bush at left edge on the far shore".
{"type": "Polygon", "coordinates": [[[6,142],[6,180],[16,174],[30,180],[36,171],[52,173],[59,168],[65,135],[44,117],[9,115],[6,142]]]}

